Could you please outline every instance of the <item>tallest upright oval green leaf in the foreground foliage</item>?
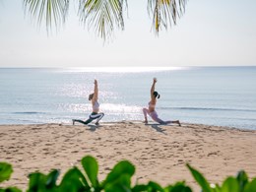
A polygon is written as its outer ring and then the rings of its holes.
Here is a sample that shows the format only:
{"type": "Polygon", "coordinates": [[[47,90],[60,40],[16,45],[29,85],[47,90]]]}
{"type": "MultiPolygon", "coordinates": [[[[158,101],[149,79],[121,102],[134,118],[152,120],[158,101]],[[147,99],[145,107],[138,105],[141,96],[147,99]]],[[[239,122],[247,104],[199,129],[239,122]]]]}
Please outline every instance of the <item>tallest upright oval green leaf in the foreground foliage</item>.
{"type": "Polygon", "coordinates": [[[97,180],[98,165],[97,165],[96,159],[91,156],[87,156],[82,159],[82,165],[92,185],[95,188],[98,187],[98,180],[97,180]]]}

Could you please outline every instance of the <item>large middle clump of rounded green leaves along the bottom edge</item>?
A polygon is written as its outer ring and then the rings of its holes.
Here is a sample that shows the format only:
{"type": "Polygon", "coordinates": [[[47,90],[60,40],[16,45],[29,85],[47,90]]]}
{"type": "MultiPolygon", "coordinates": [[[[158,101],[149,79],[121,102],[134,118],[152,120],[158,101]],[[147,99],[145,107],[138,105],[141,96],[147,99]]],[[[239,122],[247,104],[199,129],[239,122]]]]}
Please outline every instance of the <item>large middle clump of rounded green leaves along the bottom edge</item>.
{"type": "Polygon", "coordinates": [[[184,192],[191,192],[184,182],[178,182],[162,188],[160,184],[150,181],[148,184],[136,184],[132,186],[131,178],[135,173],[135,166],[127,161],[118,162],[107,174],[103,181],[98,181],[98,165],[93,157],[82,159],[82,166],[85,174],[78,168],[73,167],[66,172],[59,185],[56,184],[59,175],[58,170],[52,170],[45,175],[40,172],[30,174],[30,184],[28,192],[50,191],[50,192],[77,192],[77,191],[105,191],[105,192],[140,192],[140,191],[175,191],[185,189],[184,192]]]}

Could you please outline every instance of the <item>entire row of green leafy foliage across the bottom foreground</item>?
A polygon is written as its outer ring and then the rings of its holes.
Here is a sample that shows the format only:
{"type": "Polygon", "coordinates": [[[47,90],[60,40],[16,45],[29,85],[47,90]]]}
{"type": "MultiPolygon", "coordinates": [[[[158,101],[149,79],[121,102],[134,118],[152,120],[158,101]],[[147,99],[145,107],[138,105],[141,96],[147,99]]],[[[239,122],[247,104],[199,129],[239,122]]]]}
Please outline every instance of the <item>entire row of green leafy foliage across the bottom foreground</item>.
{"type": "MultiPolygon", "coordinates": [[[[148,184],[136,183],[132,186],[135,166],[128,160],[118,162],[102,182],[97,178],[98,164],[95,158],[87,156],[81,160],[81,163],[84,173],[74,166],[64,174],[59,184],[57,180],[60,171],[57,169],[51,170],[48,174],[31,173],[27,192],[192,192],[185,181],[166,187],[154,181],[148,184]]],[[[187,167],[203,192],[256,192],[256,178],[250,181],[243,170],[239,171],[236,177],[229,176],[224,179],[222,185],[210,185],[202,173],[189,164],[187,167]]],[[[12,172],[11,164],[0,162],[0,182],[8,180],[12,172]]],[[[6,189],[0,187],[0,192],[22,192],[22,190],[16,187],[6,189]]]]}

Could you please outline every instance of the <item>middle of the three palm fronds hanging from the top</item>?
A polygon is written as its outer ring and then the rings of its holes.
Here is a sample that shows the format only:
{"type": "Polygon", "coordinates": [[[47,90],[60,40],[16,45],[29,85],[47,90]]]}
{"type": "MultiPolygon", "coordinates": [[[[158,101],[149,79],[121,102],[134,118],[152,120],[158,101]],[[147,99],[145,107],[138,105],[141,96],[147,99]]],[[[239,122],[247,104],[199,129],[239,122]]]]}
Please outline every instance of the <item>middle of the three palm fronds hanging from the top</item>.
{"type": "Polygon", "coordinates": [[[103,39],[109,38],[115,28],[124,30],[124,1],[126,2],[126,0],[80,0],[80,19],[89,29],[95,29],[103,39]]]}

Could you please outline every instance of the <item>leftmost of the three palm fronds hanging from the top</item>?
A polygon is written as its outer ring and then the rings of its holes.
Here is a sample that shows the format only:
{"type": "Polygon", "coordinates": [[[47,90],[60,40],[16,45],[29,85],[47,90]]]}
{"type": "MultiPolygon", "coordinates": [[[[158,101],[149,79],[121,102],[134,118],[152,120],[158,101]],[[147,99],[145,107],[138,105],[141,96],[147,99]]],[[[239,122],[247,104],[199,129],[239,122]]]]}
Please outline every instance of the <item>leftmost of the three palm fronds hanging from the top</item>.
{"type": "Polygon", "coordinates": [[[69,0],[24,0],[24,5],[39,26],[45,22],[48,31],[52,23],[58,27],[65,22],[69,0]]]}

